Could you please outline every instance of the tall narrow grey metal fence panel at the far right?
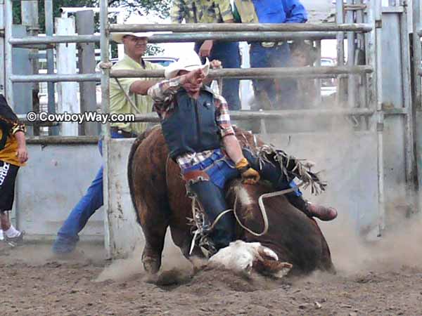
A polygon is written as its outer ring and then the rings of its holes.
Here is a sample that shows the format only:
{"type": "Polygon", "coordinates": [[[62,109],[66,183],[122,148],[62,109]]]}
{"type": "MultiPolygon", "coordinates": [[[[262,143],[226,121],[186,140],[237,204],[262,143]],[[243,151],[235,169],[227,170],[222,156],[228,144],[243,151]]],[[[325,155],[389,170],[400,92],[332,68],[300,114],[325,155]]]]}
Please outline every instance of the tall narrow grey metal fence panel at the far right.
{"type": "MultiPolygon", "coordinates": [[[[388,109],[400,109],[409,107],[405,103],[404,93],[407,93],[404,86],[403,54],[406,51],[402,48],[401,21],[403,13],[383,13],[383,98],[382,103],[388,109]]],[[[408,48],[406,48],[408,49],[408,48]]],[[[407,79],[409,80],[409,78],[407,79]]],[[[409,82],[409,81],[407,81],[409,82]]],[[[407,200],[406,192],[406,117],[389,116],[384,121],[384,172],[385,172],[385,206],[387,225],[392,224],[388,218],[395,216],[404,217],[406,213],[397,213],[396,206],[411,206],[411,199],[407,200]]],[[[410,140],[409,146],[412,146],[410,140]]],[[[413,179],[409,179],[412,181],[413,179]]],[[[408,195],[409,196],[409,195],[408,195]]]]}

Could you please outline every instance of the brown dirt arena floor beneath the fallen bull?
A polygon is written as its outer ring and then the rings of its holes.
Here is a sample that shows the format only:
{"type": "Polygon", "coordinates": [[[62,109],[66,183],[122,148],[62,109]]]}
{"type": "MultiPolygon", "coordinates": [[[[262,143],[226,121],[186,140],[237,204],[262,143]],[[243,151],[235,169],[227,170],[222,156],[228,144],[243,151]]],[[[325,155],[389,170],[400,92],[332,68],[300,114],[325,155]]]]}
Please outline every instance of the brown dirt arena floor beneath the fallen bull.
{"type": "MultiPolygon", "coordinates": [[[[192,275],[167,246],[152,283],[141,249],[108,261],[101,244],[79,244],[54,257],[49,244],[11,249],[0,243],[1,315],[421,315],[420,223],[404,223],[376,242],[323,227],[336,275],[250,279],[221,270],[192,275]]],[[[340,229],[342,228],[342,229],[340,229]]]]}

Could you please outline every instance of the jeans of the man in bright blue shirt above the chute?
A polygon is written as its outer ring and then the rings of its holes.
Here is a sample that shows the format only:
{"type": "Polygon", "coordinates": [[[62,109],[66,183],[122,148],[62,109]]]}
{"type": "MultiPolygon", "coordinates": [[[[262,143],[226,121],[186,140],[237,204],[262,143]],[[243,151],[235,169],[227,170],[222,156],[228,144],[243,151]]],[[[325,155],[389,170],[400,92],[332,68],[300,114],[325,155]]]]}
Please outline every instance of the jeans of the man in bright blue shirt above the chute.
{"type": "MultiPolygon", "coordinates": [[[[250,44],[250,67],[289,67],[290,48],[287,43],[276,45],[271,48],[262,47],[259,42],[250,44]]],[[[279,79],[279,91],[276,90],[274,79],[254,79],[252,80],[255,93],[259,91],[267,92],[269,100],[274,110],[291,109],[295,104],[297,85],[293,79],[279,79]],[[279,94],[279,102],[277,101],[279,94]]]]}

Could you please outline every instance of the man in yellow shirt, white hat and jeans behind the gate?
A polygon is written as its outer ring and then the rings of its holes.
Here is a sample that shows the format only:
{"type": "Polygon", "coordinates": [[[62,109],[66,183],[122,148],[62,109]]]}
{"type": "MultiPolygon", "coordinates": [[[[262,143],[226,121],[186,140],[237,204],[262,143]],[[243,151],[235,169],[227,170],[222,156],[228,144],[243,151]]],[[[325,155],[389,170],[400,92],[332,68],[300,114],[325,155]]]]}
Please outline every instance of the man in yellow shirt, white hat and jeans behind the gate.
{"type": "MultiPolygon", "coordinates": [[[[143,60],[146,44],[151,33],[113,33],[113,41],[124,45],[124,58],[113,65],[113,70],[154,70],[162,66],[143,60]]],[[[158,80],[139,78],[110,79],[110,113],[146,113],[151,112],[153,100],[146,96],[148,88],[158,80]],[[129,100],[128,100],[129,98],[129,100]]],[[[146,130],[146,123],[110,124],[112,138],[134,138],[146,130]]],[[[98,143],[100,153],[102,142],[98,143]]],[[[68,218],[58,230],[52,251],[55,254],[69,254],[75,250],[79,241],[79,232],[85,227],[89,218],[103,206],[103,166],[89,186],[87,193],[79,200],[68,218]]]]}

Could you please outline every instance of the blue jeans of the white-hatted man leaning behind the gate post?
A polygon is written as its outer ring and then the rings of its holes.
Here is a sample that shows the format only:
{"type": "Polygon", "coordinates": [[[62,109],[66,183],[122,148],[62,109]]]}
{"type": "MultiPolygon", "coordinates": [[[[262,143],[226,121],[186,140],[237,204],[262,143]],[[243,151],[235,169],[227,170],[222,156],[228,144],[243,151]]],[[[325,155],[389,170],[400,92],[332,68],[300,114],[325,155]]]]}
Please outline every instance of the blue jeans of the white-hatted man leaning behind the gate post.
{"type": "MultiPolygon", "coordinates": [[[[112,138],[123,138],[118,133],[113,132],[112,138]]],[[[103,141],[98,142],[98,150],[103,155],[103,141]]],[[[57,253],[66,253],[75,249],[79,240],[79,232],[87,225],[89,218],[97,209],[103,206],[103,166],[96,174],[96,177],[89,185],[85,195],[79,200],[76,206],[70,212],[68,218],[58,230],[58,237],[53,244],[53,251],[57,253]]]]}

